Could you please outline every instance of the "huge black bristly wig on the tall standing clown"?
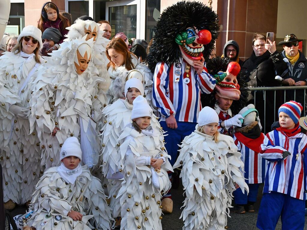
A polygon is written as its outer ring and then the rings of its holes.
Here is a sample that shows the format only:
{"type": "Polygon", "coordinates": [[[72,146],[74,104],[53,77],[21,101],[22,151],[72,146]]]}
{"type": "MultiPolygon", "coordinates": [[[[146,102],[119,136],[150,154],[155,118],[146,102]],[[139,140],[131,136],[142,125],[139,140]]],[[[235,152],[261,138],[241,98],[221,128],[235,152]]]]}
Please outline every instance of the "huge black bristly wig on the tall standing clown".
{"type": "Polygon", "coordinates": [[[181,1],[163,10],[146,58],[150,70],[154,72],[158,62],[172,64],[179,61],[182,55],[175,38],[188,27],[195,26],[198,30],[210,31],[212,40],[204,45],[203,51],[204,59],[207,60],[219,35],[218,23],[217,14],[201,2],[181,1]]]}

